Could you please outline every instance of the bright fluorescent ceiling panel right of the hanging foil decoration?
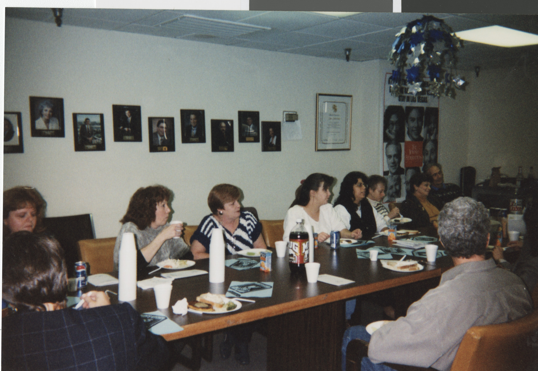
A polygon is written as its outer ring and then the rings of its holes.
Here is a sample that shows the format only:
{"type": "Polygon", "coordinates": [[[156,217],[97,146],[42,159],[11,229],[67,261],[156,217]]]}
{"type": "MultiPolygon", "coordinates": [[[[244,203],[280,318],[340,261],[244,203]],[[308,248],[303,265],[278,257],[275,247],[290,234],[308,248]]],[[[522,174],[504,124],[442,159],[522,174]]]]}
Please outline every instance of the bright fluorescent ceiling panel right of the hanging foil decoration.
{"type": "Polygon", "coordinates": [[[456,32],[460,39],[494,46],[512,48],[538,44],[538,35],[501,26],[480,27],[456,32]]]}

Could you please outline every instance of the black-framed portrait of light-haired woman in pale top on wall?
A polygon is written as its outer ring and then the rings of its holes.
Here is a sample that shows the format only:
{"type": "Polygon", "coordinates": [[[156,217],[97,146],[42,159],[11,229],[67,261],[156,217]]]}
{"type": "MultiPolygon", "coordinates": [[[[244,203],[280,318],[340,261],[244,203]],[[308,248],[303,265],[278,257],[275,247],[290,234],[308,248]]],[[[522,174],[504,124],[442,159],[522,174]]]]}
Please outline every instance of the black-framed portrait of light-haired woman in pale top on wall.
{"type": "Polygon", "coordinates": [[[30,97],[32,136],[65,137],[63,98],[30,97]]]}

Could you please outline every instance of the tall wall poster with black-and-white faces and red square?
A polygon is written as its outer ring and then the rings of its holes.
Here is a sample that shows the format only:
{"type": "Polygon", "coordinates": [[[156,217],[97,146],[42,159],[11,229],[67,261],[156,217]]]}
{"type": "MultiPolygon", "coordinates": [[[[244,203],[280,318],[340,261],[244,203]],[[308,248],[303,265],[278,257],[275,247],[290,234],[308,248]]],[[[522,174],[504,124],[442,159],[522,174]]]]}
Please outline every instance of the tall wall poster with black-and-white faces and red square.
{"type": "Polygon", "coordinates": [[[391,76],[390,72],[385,75],[383,104],[384,202],[401,202],[413,192],[409,189],[413,174],[437,162],[439,99],[427,89],[394,97],[390,93],[391,76]]]}

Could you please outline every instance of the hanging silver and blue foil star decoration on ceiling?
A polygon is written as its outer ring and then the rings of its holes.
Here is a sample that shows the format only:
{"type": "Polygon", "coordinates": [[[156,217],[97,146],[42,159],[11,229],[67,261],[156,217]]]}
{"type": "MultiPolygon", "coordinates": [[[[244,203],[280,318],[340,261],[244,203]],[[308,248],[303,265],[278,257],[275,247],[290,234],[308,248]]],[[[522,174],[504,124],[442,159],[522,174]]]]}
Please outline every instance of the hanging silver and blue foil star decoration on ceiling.
{"type": "Polygon", "coordinates": [[[416,94],[428,90],[435,97],[456,97],[464,89],[464,78],[457,75],[457,52],[463,41],[442,19],[423,16],[396,34],[389,60],[395,69],[391,94],[416,94]]]}

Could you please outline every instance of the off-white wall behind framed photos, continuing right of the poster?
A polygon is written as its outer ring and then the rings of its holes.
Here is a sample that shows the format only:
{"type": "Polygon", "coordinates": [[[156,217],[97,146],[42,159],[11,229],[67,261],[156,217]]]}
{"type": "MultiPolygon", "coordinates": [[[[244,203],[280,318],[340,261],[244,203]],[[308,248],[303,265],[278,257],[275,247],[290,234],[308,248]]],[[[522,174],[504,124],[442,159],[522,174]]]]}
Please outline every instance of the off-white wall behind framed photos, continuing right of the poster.
{"type": "MultiPolygon", "coordinates": [[[[380,172],[380,112],[385,61],[350,62],[101,31],[6,18],[4,109],[23,117],[24,154],[4,156],[4,190],[35,186],[47,215],[93,213],[97,237],[115,236],[138,187],[162,184],[175,192],[174,219],[197,224],[209,213],[211,187],[242,188],[245,206],[261,219],[283,219],[295,188],[312,172],[342,180],[351,170],[380,172]],[[353,96],[351,150],[316,152],[316,93],[353,96]],[[29,96],[64,99],[66,137],[30,136],[29,96]],[[140,105],[143,142],[115,143],[112,104],[140,105]],[[208,143],[181,144],[180,109],[206,110],[208,143]],[[280,121],[298,111],[303,140],[281,152],[238,143],[212,153],[210,119],[260,111],[280,121]],[[73,112],[104,113],[106,151],[75,152],[73,112]],[[176,151],[148,151],[147,117],[175,117],[176,151]]],[[[538,170],[536,83],[525,71],[467,72],[470,85],[456,100],[441,99],[439,161],[445,180],[459,169],[492,166],[515,176],[517,166],[538,170]],[[508,76],[508,77],[505,77],[508,76]]],[[[334,187],[339,190],[339,184],[334,187]]]]}

